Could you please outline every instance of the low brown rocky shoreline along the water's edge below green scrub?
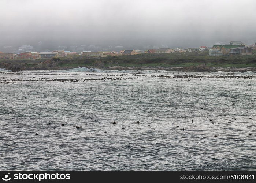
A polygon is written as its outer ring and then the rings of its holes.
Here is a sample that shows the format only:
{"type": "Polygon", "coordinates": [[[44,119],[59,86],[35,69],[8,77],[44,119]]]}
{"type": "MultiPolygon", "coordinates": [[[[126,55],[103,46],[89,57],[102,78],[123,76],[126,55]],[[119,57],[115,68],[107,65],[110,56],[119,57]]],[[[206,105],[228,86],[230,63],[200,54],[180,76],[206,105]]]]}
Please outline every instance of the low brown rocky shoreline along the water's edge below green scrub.
{"type": "MultiPolygon", "coordinates": [[[[180,72],[256,72],[256,68],[235,68],[235,67],[208,67],[205,64],[199,66],[190,67],[150,67],[150,66],[134,66],[134,67],[123,67],[123,66],[112,66],[105,67],[104,64],[94,63],[92,66],[83,66],[87,68],[99,68],[105,70],[166,70],[166,71],[180,71],[180,72]]],[[[0,68],[10,70],[13,72],[24,71],[24,70],[66,70],[71,68],[77,68],[74,66],[61,66],[59,60],[46,60],[37,64],[28,63],[0,63],[0,68]]]]}

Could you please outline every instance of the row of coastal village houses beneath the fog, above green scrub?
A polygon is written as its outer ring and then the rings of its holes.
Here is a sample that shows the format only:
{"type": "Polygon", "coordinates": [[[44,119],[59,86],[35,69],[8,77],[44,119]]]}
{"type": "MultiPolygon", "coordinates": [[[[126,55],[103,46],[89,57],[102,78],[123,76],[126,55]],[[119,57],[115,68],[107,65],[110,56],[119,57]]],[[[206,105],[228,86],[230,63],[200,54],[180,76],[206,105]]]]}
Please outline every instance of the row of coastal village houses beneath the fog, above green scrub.
{"type": "MultiPolygon", "coordinates": [[[[18,48],[19,53],[6,53],[0,51],[0,59],[50,59],[50,58],[64,58],[82,55],[85,57],[107,57],[107,56],[123,56],[123,55],[137,55],[137,54],[160,54],[160,53],[184,53],[184,52],[198,52],[208,53],[209,56],[234,56],[234,55],[254,55],[256,50],[256,43],[247,45],[241,41],[230,41],[224,45],[213,45],[212,47],[199,46],[194,48],[159,48],[159,49],[123,49],[117,51],[83,51],[79,48],[74,51],[66,51],[66,46],[59,46],[53,51],[36,51],[33,46],[22,45],[18,48]],[[80,51],[80,52],[79,52],[80,51]]],[[[81,45],[84,46],[84,45],[81,45]]],[[[120,46],[122,48],[122,46],[120,46]]]]}

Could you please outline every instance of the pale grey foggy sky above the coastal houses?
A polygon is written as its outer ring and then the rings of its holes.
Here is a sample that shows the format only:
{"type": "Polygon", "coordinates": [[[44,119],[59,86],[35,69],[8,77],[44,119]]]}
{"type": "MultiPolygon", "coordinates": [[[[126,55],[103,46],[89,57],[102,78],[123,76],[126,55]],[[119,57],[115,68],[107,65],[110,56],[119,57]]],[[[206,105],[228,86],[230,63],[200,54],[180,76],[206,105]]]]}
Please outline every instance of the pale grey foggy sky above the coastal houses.
{"type": "Polygon", "coordinates": [[[256,41],[255,0],[0,0],[0,46],[256,41]]]}

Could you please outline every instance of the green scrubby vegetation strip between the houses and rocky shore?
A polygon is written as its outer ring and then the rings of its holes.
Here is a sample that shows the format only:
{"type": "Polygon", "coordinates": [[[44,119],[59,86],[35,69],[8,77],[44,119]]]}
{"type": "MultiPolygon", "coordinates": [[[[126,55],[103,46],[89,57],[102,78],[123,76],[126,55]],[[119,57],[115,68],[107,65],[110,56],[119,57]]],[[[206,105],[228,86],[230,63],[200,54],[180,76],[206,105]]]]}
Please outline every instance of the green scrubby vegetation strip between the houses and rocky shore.
{"type": "MultiPolygon", "coordinates": [[[[23,63],[28,67],[36,67],[46,60],[26,59],[1,59],[1,63],[23,63]]],[[[235,67],[235,68],[256,68],[256,51],[248,56],[209,56],[208,52],[200,53],[162,53],[162,54],[139,54],[127,56],[107,57],[84,57],[74,56],[73,58],[55,59],[59,68],[75,68],[92,66],[96,68],[109,68],[112,66],[121,67],[189,67],[206,64],[209,67],[235,67]]]]}

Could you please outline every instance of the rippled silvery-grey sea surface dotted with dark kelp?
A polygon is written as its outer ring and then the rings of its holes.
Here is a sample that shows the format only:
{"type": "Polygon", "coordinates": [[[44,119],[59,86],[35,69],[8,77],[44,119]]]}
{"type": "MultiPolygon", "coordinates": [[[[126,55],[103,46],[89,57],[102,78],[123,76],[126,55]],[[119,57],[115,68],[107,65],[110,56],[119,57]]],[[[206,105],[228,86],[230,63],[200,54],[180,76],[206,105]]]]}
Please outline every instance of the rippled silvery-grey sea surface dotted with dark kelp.
{"type": "Polygon", "coordinates": [[[0,72],[0,170],[256,170],[253,72],[0,72]]]}

